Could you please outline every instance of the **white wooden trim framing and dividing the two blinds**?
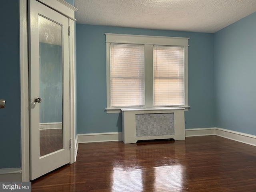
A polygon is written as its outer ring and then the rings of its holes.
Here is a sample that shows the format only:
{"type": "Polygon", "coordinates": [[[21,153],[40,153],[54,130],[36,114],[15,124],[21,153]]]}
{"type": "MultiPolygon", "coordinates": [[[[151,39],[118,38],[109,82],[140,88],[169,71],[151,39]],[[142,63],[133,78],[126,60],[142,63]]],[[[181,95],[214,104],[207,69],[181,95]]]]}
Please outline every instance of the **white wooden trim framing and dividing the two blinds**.
{"type": "MultiPolygon", "coordinates": [[[[166,36],[147,36],[147,35],[129,35],[129,34],[112,34],[106,35],[106,94],[107,94],[107,113],[119,113],[124,108],[111,108],[111,76],[110,76],[110,44],[124,43],[124,44],[144,44],[144,73],[145,75],[145,107],[153,107],[153,68],[146,63],[153,63],[153,45],[167,45],[167,46],[184,46],[184,106],[174,106],[173,108],[182,107],[188,110],[188,40],[190,38],[184,37],[166,37],[166,36]]],[[[163,108],[163,107],[161,107],[163,108]]],[[[172,109],[168,106],[166,109],[172,109]]]]}

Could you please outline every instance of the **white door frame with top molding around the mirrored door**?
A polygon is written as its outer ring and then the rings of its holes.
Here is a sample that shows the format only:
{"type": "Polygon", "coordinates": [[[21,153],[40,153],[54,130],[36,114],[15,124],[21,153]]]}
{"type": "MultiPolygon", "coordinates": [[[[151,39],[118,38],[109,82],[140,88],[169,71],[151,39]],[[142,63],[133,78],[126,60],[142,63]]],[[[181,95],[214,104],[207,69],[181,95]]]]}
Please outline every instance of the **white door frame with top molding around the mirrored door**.
{"type": "MultiPolygon", "coordinates": [[[[69,19],[69,72],[70,72],[70,164],[75,162],[75,68],[74,68],[74,12],[77,10],[64,0],[37,0],[62,13],[69,19]]],[[[29,148],[29,78],[28,78],[28,0],[19,0],[20,23],[20,128],[22,181],[30,180],[29,148]]]]}

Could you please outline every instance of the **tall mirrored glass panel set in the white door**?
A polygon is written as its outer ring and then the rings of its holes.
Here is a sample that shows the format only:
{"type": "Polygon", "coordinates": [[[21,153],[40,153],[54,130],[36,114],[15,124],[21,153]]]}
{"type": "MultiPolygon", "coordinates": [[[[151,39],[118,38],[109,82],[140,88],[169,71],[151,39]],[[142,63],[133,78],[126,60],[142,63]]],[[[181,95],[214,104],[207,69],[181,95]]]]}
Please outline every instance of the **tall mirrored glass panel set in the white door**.
{"type": "Polygon", "coordinates": [[[62,26],[38,16],[40,156],[63,148],[62,26]]]}

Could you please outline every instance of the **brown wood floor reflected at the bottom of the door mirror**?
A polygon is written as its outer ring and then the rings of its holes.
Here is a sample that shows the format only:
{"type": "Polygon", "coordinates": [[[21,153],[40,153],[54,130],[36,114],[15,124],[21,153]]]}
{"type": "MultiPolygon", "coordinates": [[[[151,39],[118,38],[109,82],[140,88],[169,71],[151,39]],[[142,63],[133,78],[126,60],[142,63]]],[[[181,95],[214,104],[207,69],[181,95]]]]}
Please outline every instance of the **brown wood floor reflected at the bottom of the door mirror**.
{"type": "Polygon", "coordinates": [[[62,129],[40,130],[40,156],[60,150],[62,146],[62,129]]]}

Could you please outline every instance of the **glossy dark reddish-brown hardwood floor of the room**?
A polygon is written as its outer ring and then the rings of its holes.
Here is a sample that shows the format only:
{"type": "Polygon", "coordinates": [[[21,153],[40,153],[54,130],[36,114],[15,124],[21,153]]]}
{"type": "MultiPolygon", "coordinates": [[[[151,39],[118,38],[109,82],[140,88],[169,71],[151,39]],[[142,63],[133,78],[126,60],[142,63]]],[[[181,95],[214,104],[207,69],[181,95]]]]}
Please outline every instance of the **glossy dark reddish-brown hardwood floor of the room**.
{"type": "Polygon", "coordinates": [[[255,192],[256,147],[218,136],[79,144],[76,163],[32,182],[44,192],[255,192]]]}

